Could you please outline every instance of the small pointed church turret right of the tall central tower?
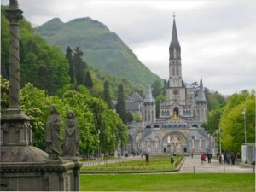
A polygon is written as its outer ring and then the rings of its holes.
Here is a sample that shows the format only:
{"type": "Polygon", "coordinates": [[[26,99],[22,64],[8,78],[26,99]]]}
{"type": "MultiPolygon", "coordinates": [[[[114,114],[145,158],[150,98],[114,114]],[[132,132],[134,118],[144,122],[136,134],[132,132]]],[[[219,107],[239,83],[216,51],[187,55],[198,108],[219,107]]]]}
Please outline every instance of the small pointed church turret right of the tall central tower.
{"type": "Polygon", "coordinates": [[[195,97],[195,121],[205,123],[207,121],[207,111],[207,98],[202,79],[200,79],[198,96],[195,97]]]}

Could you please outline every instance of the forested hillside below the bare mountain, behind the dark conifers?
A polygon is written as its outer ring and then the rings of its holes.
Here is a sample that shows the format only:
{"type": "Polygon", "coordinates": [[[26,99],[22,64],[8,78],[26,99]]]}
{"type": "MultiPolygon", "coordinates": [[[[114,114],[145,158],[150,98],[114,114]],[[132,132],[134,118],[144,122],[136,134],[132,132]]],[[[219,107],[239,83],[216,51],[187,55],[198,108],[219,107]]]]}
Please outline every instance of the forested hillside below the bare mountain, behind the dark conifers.
{"type": "MultiPolygon", "coordinates": [[[[7,8],[1,6],[1,75],[5,79],[9,79],[9,21],[4,16],[4,9],[7,8]]],[[[102,95],[105,80],[109,82],[112,99],[116,99],[119,84],[124,85],[125,96],[138,90],[137,84],[123,77],[93,70],[91,67],[89,70],[94,84],[90,89],[93,96],[102,95]]],[[[20,87],[28,82],[40,90],[46,90],[50,96],[61,95],[65,90],[73,88],[65,52],[49,45],[24,18],[20,20],[20,87]]]]}

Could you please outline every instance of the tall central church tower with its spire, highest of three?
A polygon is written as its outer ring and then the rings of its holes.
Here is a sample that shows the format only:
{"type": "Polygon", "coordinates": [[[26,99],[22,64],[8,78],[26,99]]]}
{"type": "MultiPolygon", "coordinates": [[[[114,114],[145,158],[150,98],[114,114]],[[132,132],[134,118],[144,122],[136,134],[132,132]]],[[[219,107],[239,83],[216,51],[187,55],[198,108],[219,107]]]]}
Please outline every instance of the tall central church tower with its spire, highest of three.
{"type": "Polygon", "coordinates": [[[183,111],[182,106],[186,104],[186,88],[182,77],[181,48],[177,38],[175,15],[173,16],[169,55],[169,80],[168,87],[166,88],[166,102],[170,109],[168,113],[172,115],[175,112],[177,115],[180,115],[181,111],[183,111]]]}

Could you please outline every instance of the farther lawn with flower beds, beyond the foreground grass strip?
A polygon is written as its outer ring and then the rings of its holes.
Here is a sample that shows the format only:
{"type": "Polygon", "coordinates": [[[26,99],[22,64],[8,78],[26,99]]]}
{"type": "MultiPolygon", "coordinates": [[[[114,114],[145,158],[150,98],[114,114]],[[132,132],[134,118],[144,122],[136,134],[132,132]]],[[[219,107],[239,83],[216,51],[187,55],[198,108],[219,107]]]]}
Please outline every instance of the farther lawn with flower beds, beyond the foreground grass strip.
{"type": "MultiPolygon", "coordinates": [[[[174,160],[176,162],[177,157],[174,160]]],[[[171,164],[169,157],[151,157],[149,158],[149,165],[145,164],[145,158],[143,158],[101,166],[87,166],[83,167],[81,172],[152,172],[170,171],[174,168],[174,163],[171,164]]]]}

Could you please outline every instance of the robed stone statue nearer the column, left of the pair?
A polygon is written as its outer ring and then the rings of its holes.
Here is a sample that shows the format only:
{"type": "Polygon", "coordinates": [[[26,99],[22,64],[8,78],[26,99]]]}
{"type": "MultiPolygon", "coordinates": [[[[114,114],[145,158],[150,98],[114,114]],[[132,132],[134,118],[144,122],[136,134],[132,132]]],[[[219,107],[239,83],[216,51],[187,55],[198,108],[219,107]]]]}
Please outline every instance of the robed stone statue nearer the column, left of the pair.
{"type": "Polygon", "coordinates": [[[49,159],[61,159],[61,115],[58,113],[55,105],[50,107],[49,117],[46,122],[45,144],[46,152],[49,154],[49,159]]]}

